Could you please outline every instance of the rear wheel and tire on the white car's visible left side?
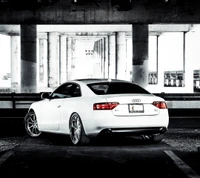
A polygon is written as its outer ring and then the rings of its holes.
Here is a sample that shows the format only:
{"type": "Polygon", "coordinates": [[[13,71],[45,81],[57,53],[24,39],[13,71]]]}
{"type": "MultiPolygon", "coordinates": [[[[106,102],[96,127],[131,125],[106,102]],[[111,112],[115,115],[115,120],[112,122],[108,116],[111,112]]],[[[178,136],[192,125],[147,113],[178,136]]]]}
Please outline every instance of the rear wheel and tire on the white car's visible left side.
{"type": "Polygon", "coordinates": [[[90,138],[85,134],[85,130],[78,113],[73,113],[69,120],[70,139],[73,145],[87,145],[90,138]]]}

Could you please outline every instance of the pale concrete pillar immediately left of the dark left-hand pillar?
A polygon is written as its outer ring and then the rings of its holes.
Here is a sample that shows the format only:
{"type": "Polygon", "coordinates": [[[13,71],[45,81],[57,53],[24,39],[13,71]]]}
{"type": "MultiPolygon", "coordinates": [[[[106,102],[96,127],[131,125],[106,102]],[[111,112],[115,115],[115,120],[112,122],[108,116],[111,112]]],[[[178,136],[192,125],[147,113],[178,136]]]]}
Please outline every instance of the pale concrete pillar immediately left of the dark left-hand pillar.
{"type": "Polygon", "coordinates": [[[11,91],[20,91],[20,36],[11,36],[11,91]]]}

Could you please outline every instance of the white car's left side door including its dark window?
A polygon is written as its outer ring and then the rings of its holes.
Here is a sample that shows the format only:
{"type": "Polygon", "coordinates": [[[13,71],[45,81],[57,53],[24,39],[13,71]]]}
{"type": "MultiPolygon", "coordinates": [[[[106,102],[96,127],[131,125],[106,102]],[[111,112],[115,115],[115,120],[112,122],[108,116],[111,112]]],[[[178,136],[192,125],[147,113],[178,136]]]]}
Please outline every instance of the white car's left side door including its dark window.
{"type": "Polygon", "coordinates": [[[71,83],[65,83],[52,92],[48,102],[45,103],[41,116],[43,131],[57,131],[59,129],[62,103],[71,97],[69,91],[71,83]]]}

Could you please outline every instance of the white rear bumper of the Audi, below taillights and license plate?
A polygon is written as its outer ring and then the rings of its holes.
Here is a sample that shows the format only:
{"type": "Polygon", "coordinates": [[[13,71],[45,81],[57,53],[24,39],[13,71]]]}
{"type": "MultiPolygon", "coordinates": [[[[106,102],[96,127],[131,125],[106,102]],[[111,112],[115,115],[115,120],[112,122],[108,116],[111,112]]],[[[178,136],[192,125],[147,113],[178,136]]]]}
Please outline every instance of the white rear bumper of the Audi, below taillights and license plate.
{"type": "Polygon", "coordinates": [[[85,122],[85,132],[88,136],[109,131],[113,134],[156,134],[167,131],[169,124],[168,113],[163,112],[156,116],[143,117],[93,117],[85,122]]]}

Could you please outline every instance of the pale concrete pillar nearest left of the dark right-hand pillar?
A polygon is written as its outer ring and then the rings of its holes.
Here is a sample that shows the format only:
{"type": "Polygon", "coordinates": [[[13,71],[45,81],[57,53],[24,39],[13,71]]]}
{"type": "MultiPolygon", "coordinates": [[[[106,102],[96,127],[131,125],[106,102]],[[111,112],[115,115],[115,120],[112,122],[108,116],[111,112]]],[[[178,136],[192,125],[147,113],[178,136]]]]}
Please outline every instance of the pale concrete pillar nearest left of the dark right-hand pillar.
{"type": "Polygon", "coordinates": [[[126,79],[126,33],[116,33],[117,79],[126,79]]]}

